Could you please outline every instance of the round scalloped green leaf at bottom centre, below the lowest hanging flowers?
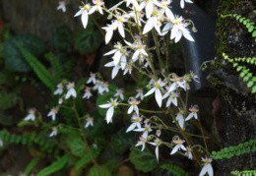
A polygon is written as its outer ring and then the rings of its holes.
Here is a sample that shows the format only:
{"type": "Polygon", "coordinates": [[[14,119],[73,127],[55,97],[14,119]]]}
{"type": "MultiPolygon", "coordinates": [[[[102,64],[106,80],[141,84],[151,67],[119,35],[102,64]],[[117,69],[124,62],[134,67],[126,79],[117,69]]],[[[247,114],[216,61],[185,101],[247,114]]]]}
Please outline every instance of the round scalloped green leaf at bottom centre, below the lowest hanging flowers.
{"type": "Polygon", "coordinates": [[[132,147],[129,158],[135,165],[135,168],[143,172],[154,170],[158,164],[156,155],[153,154],[147,147],[143,151],[139,147],[132,147]]]}

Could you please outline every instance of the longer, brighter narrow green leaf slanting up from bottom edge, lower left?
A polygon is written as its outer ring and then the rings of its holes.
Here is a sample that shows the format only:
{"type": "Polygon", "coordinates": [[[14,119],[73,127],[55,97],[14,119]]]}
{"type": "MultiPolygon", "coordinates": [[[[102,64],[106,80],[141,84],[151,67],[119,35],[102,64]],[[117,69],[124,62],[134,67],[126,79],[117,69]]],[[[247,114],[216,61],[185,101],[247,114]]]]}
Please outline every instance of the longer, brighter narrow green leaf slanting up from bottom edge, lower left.
{"type": "Polygon", "coordinates": [[[36,176],[48,176],[54,172],[57,172],[60,169],[62,169],[67,162],[68,162],[68,154],[65,154],[62,157],[58,158],[58,160],[53,162],[51,165],[40,170],[36,176]]]}

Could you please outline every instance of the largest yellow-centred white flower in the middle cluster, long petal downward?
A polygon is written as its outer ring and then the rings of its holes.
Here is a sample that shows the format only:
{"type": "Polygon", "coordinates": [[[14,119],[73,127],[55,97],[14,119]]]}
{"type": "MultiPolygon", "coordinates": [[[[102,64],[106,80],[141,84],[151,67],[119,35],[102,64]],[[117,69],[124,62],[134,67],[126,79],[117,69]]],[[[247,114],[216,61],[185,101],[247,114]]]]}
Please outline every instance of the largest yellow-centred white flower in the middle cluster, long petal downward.
{"type": "Polygon", "coordinates": [[[150,95],[150,94],[152,94],[152,93],[155,92],[156,100],[157,100],[159,106],[161,106],[161,100],[162,100],[161,97],[162,97],[162,96],[161,96],[160,89],[161,89],[162,87],[164,87],[164,86],[165,86],[165,83],[161,82],[160,80],[157,81],[157,82],[155,81],[155,83],[154,83],[154,88],[150,89],[144,96],[148,96],[148,95],[150,95]]]}

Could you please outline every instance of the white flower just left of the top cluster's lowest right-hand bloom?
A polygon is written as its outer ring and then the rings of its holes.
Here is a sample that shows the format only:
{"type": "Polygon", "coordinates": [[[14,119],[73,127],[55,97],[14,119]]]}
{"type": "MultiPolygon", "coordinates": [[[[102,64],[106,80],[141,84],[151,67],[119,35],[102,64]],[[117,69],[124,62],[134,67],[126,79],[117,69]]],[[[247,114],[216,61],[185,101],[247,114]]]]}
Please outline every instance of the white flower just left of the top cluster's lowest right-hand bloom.
{"type": "Polygon", "coordinates": [[[148,21],[143,29],[143,34],[149,32],[151,29],[155,28],[159,34],[161,35],[160,32],[160,19],[163,17],[162,12],[155,7],[154,11],[152,12],[152,16],[148,18],[148,21]]]}

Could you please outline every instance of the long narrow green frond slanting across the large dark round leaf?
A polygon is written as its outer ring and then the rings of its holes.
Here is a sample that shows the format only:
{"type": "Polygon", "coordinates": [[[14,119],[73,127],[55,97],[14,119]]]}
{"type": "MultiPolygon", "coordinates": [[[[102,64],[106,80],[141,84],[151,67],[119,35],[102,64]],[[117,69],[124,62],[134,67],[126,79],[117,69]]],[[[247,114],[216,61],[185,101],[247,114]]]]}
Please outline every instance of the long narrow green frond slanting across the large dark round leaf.
{"type": "Polygon", "coordinates": [[[56,80],[52,77],[52,75],[46,70],[46,68],[38,62],[38,60],[32,56],[30,52],[28,52],[24,47],[22,47],[19,44],[16,44],[16,46],[19,48],[19,50],[22,52],[30,66],[32,67],[32,70],[36,74],[36,76],[40,79],[40,81],[50,88],[52,91],[55,89],[57,83],[56,80]]]}

